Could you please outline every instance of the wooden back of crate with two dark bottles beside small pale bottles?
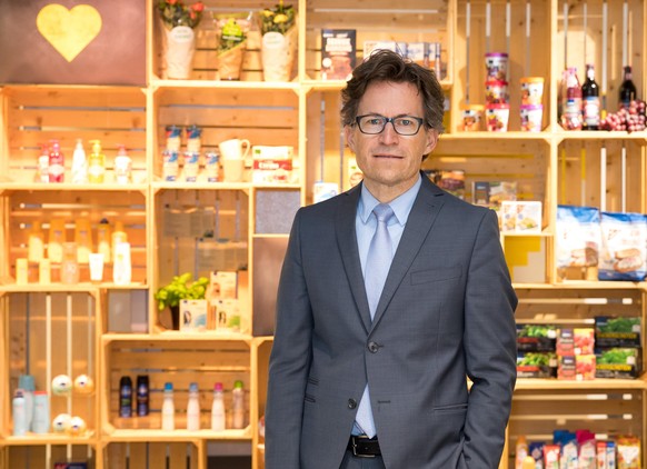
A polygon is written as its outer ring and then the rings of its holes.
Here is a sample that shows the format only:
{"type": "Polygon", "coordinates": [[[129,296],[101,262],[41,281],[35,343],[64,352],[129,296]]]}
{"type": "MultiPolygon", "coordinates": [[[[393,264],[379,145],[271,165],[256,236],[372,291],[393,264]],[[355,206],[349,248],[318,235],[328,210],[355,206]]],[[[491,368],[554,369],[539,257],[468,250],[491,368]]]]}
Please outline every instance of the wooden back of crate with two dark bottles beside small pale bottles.
{"type": "Polygon", "coordinates": [[[251,352],[245,342],[213,341],[127,341],[111,342],[106,352],[109,369],[107,382],[108,418],[115,428],[161,428],[161,406],[165,382],[173,383],[176,428],[186,428],[189,383],[200,389],[201,428],[210,428],[215,382],[222,382],[227,428],[231,428],[231,389],[241,380],[246,391],[247,423],[249,425],[251,352]],[[129,376],[135,386],[138,375],[148,375],[150,415],[119,418],[119,380],[129,376]]]}

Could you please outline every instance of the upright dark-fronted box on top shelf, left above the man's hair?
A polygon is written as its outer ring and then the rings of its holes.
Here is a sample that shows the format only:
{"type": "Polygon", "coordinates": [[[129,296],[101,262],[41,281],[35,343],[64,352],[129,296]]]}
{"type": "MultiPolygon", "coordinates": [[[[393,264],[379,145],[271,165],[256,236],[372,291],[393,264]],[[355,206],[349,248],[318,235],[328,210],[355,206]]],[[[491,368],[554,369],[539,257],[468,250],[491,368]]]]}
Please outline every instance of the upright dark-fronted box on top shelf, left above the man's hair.
{"type": "Polygon", "coordinates": [[[348,80],[356,63],[355,29],[321,30],[321,80],[348,80]]]}

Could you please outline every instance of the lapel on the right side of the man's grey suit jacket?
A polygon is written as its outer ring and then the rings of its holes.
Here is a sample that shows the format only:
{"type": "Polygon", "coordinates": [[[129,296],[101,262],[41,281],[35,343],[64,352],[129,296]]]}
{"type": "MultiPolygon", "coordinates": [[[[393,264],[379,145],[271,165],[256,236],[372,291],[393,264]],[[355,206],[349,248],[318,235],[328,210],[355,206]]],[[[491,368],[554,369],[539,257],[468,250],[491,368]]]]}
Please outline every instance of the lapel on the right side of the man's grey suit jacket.
{"type": "Polygon", "coordinates": [[[445,202],[445,198],[442,197],[445,192],[431,183],[426,174],[421,174],[421,177],[422,186],[420,186],[414,207],[411,207],[411,212],[409,213],[405,231],[402,232],[402,238],[400,239],[398,250],[391,262],[391,268],[382,289],[380,301],[377,306],[372,328],[375,328],[381,319],[387,306],[398,289],[398,286],[405,278],[405,275],[427,239],[427,234],[434,226],[436,217],[440,212],[440,208],[445,202]]]}

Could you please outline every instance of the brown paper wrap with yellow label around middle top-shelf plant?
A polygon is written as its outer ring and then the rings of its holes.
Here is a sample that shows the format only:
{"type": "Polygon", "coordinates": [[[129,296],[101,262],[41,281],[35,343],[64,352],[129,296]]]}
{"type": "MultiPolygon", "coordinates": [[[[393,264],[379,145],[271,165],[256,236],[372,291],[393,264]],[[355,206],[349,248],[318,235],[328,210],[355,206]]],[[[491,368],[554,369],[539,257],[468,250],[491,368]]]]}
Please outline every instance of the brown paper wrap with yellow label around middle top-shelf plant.
{"type": "Polygon", "coordinates": [[[220,80],[240,80],[251,14],[249,12],[213,16],[218,37],[217,57],[220,80]]]}

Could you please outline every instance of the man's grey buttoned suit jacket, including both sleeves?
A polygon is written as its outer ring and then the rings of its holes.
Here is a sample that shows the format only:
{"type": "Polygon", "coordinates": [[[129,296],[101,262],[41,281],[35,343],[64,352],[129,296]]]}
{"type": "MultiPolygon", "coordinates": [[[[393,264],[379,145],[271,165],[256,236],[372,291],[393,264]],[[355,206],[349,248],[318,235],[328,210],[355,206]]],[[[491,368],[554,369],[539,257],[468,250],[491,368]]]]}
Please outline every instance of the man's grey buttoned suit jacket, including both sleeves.
{"type": "Polygon", "coordinates": [[[278,291],[266,468],[339,468],[367,381],[387,468],[497,468],[517,298],[496,213],[422,174],[371,322],[359,194],[296,216],[278,291]]]}

